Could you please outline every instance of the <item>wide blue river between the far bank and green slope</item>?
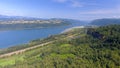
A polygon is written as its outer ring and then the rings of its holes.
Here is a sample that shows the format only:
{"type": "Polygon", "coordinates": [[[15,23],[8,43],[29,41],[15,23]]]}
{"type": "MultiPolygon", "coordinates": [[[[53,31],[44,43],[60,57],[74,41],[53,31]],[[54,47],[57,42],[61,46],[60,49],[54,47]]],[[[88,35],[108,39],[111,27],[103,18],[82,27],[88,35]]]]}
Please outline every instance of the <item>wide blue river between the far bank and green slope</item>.
{"type": "Polygon", "coordinates": [[[46,38],[50,35],[59,34],[65,29],[81,25],[83,24],[72,23],[71,25],[59,27],[0,31],[0,48],[25,44],[31,40],[46,38]]]}

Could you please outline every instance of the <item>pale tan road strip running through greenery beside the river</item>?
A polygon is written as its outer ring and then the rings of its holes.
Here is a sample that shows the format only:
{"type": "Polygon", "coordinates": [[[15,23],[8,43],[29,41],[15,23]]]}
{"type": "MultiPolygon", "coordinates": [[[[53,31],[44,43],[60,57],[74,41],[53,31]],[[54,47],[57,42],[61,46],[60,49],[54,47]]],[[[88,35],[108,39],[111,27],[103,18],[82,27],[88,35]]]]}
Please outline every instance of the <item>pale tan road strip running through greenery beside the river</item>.
{"type": "Polygon", "coordinates": [[[40,45],[36,45],[36,46],[33,46],[33,47],[29,47],[29,48],[17,50],[17,51],[14,51],[14,52],[6,53],[6,54],[3,54],[3,55],[0,55],[0,58],[9,57],[9,56],[12,56],[12,55],[14,55],[14,54],[21,54],[21,53],[23,53],[23,52],[25,52],[25,51],[28,51],[28,50],[35,49],[35,48],[40,47],[40,46],[44,46],[44,45],[50,44],[50,43],[52,43],[52,42],[53,42],[53,41],[47,42],[47,43],[43,43],[43,44],[40,44],[40,45]]]}

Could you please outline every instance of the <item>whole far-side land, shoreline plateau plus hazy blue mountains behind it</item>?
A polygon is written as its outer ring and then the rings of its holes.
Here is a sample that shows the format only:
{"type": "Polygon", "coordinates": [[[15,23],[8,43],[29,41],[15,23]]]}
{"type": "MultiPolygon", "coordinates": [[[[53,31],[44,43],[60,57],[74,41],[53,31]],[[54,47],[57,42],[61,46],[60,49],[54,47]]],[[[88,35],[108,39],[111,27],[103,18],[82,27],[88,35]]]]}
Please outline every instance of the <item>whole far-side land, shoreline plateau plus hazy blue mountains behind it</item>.
{"type": "Polygon", "coordinates": [[[65,26],[71,23],[84,24],[82,23],[82,21],[73,19],[62,18],[41,19],[33,17],[0,15],[0,30],[55,27],[65,26]]]}

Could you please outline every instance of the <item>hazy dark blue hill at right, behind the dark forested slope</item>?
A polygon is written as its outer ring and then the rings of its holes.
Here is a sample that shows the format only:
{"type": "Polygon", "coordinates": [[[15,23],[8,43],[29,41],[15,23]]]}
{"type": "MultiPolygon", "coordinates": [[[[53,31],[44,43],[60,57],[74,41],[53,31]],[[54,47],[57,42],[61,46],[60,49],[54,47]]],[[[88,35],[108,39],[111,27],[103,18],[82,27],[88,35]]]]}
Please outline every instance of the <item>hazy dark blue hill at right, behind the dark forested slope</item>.
{"type": "Polygon", "coordinates": [[[114,19],[114,18],[105,18],[105,19],[96,19],[93,20],[91,25],[97,25],[97,26],[105,26],[110,24],[120,24],[120,19],[114,19]]]}

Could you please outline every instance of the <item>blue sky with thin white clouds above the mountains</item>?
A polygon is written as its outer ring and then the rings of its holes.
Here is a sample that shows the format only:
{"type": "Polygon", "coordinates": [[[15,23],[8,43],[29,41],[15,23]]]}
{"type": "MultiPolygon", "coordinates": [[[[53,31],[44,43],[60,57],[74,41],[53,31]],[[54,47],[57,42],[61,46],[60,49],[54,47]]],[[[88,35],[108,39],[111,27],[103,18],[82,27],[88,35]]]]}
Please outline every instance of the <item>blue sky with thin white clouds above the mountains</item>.
{"type": "Polygon", "coordinates": [[[79,20],[120,18],[120,0],[0,0],[0,15],[79,20]]]}

